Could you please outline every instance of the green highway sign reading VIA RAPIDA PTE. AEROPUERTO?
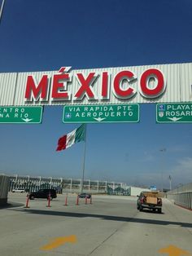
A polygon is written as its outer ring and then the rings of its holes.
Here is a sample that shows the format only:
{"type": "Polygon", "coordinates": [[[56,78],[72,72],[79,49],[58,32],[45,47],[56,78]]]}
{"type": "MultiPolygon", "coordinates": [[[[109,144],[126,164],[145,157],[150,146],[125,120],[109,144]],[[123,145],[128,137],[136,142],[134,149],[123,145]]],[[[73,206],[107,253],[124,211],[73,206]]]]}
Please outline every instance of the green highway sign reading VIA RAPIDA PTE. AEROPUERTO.
{"type": "Polygon", "coordinates": [[[72,105],[63,108],[63,123],[138,121],[139,104],[72,105]]]}

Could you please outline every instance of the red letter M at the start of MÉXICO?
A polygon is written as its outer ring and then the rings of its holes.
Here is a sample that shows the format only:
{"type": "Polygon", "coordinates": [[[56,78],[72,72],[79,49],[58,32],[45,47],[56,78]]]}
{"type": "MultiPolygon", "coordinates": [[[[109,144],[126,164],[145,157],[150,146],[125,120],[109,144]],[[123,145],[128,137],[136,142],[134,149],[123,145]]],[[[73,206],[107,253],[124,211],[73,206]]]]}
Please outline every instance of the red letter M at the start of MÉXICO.
{"type": "Polygon", "coordinates": [[[33,76],[29,75],[27,78],[24,99],[26,101],[38,101],[39,99],[40,101],[48,100],[48,85],[48,75],[43,75],[39,84],[37,84],[33,76]]]}

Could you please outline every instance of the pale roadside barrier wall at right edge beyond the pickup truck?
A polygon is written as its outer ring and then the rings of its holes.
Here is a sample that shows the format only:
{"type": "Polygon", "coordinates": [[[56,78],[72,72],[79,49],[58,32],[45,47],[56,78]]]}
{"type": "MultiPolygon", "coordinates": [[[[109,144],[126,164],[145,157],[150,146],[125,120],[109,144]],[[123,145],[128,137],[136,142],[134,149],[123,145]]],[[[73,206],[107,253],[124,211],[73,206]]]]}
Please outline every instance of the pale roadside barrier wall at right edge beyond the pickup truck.
{"type": "Polygon", "coordinates": [[[176,205],[192,210],[192,183],[167,192],[167,198],[176,205]]]}

